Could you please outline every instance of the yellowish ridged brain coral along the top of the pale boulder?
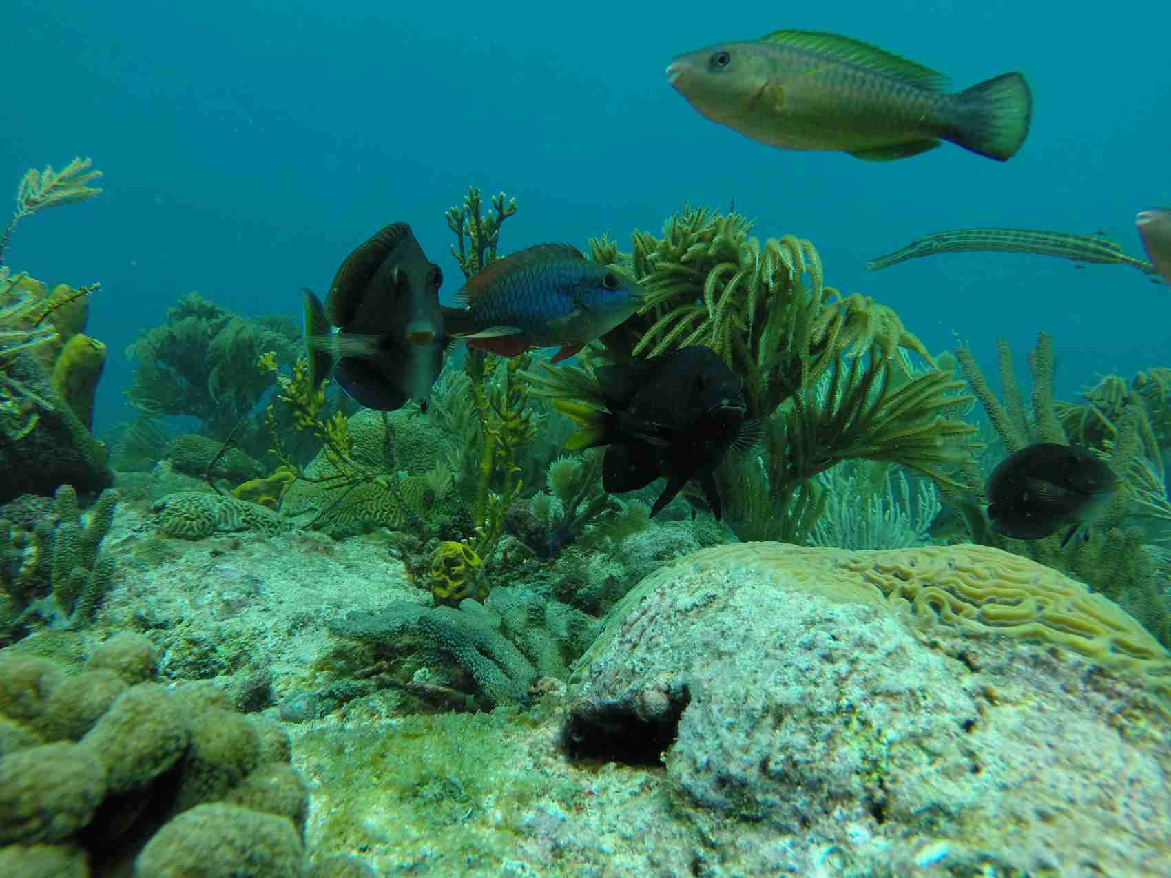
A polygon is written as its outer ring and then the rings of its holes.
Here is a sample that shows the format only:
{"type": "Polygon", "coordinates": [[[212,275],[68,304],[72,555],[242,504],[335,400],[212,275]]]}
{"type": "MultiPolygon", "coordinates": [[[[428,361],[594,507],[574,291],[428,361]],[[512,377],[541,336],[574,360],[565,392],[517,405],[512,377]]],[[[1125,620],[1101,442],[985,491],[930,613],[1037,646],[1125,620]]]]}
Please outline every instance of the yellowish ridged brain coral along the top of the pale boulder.
{"type": "Polygon", "coordinates": [[[588,664],[643,598],[687,570],[745,568],[837,603],[1064,646],[1171,692],[1171,654],[1132,616],[1034,561],[986,546],[849,551],[775,542],[730,543],[686,555],[644,578],[611,611],[588,664]]]}

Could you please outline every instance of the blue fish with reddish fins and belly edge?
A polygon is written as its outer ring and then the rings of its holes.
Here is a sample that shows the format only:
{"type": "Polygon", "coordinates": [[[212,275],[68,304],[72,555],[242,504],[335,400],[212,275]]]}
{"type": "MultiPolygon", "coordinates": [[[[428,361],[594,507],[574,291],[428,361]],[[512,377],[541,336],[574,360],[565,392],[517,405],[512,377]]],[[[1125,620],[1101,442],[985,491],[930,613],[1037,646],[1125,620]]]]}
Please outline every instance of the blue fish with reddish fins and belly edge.
{"type": "Polygon", "coordinates": [[[586,259],[568,243],[539,243],[489,262],[444,308],[447,331],[505,357],[529,348],[561,348],[571,357],[638,310],[634,280],[586,259]]]}

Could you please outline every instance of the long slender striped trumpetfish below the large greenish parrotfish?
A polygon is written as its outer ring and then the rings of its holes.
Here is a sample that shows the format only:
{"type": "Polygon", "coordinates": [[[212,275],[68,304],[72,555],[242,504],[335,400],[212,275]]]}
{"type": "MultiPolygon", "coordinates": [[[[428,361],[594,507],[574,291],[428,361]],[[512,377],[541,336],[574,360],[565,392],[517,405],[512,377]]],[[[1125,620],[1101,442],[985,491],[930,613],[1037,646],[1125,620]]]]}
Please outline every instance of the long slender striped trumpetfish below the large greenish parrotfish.
{"type": "Polygon", "coordinates": [[[867,262],[867,268],[877,272],[909,259],[933,256],[937,253],[1035,253],[1039,256],[1059,256],[1075,262],[1098,265],[1134,266],[1144,274],[1153,275],[1150,262],[1128,256],[1114,241],[1102,235],[1075,235],[1066,232],[1036,232],[1028,228],[957,228],[951,232],[916,238],[905,247],[885,256],[867,262]]]}

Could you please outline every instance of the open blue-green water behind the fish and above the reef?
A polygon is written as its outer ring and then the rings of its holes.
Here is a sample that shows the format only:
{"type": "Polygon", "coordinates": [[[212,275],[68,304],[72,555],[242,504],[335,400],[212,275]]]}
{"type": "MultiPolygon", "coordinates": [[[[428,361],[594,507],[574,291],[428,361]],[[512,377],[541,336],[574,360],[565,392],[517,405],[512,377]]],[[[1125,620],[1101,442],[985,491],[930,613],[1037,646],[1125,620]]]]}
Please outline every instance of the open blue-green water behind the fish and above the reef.
{"type": "Polygon", "coordinates": [[[1141,254],[1137,211],[1171,203],[1171,9],[992,2],[548,6],[184,5],[13,0],[0,180],[91,156],[96,200],[21,224],[7,261],[50,283],[100,280],[90,334],[110,362],[101,433],[129,411],[123,348],[179,295],[244,313],[300,307],[372,231],[409,221],[458,287],[443,211],[470,184],[514,193],[502,251],[658,232],[684,203],[813,240],[827,282],[895,307],[932,350],[958,330],[986,363],[1041,329],[1059,396],[1169,359],[1166,288],[1124,267],[965,254],[881,274],[865,261],[933,231],[1104,232],[1141,254]],[[667,11],[669,9],[669,11],[667,11]],[[788,13],[788,14],[786,14],[788,13]],[[693,111],[670,59],[776,28],[852,35],[957,87],[1022,70],[1032,135],[1007,164],[946,146],[874,164],[782,152],[693,111]]]}

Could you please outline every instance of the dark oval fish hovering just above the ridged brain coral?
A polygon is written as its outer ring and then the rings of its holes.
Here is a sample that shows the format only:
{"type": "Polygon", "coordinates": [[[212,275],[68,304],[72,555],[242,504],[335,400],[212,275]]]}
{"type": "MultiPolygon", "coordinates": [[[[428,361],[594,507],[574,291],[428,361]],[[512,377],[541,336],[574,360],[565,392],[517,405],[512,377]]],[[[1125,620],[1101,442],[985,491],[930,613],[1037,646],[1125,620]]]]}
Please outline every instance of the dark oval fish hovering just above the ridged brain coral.
{"type": "Polygon", "coordinates": [[[1109,502],[1118,479],[1086,448],[1038,443],[1009,454],[988,476],[988,520],[998,534],[1042,540],[1071,526],[1061,544],[1109,502]]]}

